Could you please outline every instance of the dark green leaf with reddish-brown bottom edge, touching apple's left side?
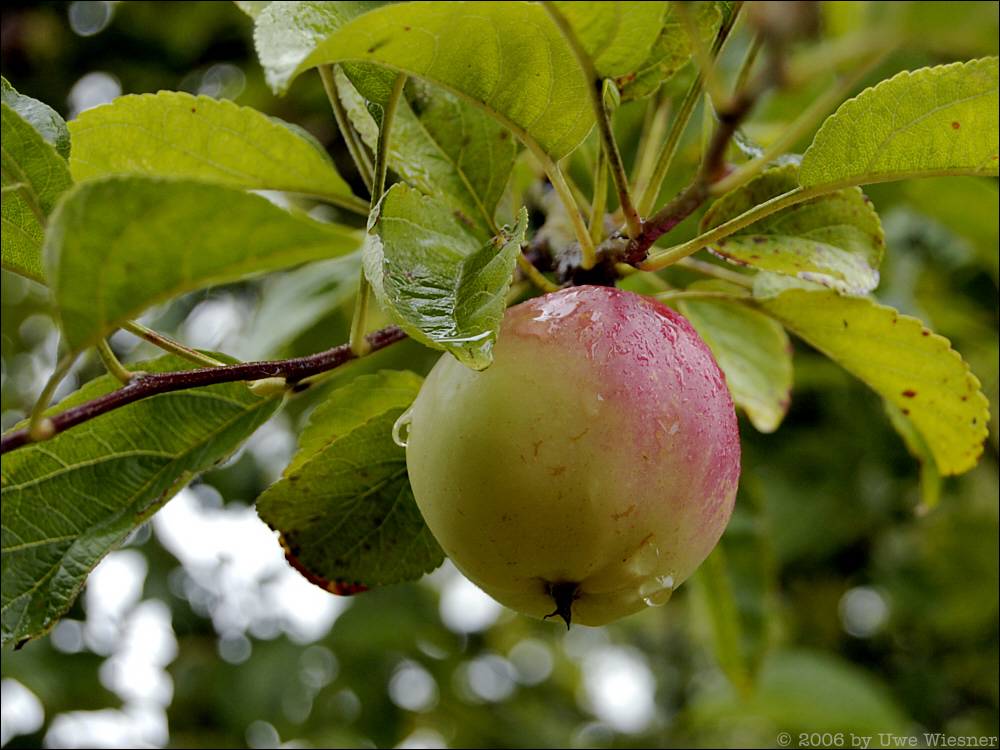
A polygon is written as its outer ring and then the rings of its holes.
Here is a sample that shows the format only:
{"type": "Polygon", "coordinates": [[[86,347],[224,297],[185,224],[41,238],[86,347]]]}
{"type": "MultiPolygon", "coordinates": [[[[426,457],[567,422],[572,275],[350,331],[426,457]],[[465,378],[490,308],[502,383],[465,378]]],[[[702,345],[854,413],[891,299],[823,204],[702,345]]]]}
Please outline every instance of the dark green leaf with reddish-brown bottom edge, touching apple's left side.
{"type": "Polygon", "coordinates": [[[392,439],[420,383],[410,372],[383,371],[331,393],[282,478],[257,499],[288,561],[328,591],[412,581],[444,560],[413,499],[406,453],[392,439]]]}

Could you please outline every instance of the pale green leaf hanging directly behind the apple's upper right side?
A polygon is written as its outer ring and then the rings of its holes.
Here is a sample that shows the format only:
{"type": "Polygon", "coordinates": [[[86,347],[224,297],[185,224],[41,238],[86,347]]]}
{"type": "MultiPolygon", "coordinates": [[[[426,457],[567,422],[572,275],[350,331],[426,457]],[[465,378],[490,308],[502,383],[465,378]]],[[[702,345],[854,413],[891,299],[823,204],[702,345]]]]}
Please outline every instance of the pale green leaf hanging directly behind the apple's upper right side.
{"type": "MultiPolygon", "coordinates": [[[[689,289],[717,288],[692,284],[689,289]]],[[[736,302],[678,300],[726,376],[733,401],[761,432],[774,432],[788,411],[792,352],[785,329],[736,302]]]]}

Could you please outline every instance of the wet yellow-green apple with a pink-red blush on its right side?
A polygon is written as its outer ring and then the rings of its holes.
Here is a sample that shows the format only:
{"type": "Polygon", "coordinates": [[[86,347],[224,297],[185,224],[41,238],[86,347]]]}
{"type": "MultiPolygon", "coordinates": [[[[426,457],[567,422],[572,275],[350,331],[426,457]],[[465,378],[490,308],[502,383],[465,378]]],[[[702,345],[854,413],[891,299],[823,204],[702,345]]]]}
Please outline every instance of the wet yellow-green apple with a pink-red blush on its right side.
{"type": "Polygon", "coordinates": [[[409,414],[417,504],[455,565],[533,617],[665,603],[725,530],[733,402],[680,314],[580,286],[509,309],[493,364],[444,355],[409,414]]]}

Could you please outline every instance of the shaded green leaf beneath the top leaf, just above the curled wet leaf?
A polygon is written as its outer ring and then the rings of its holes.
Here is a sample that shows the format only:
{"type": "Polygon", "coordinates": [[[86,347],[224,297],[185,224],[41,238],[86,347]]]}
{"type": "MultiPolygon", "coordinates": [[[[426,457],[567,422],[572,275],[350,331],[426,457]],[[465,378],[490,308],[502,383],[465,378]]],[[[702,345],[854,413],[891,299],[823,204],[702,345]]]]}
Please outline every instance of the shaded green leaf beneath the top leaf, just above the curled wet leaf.
{"type": "MultiPolygon", "coordinates": [[[[352,84],[354,72],[350,79],[338,71],[337,89],[354,127],[374,151],[379,126],[352,84]]],[[[365,96],[371,99],[368,91],[365,96]]],[[[424,195],[451,204],[481,237],[493,234],[494,212],[516,156],[510,131],[445,91],[418,91],[413,106],[405,99],[398,104],[389,167],[424,195]]]]}

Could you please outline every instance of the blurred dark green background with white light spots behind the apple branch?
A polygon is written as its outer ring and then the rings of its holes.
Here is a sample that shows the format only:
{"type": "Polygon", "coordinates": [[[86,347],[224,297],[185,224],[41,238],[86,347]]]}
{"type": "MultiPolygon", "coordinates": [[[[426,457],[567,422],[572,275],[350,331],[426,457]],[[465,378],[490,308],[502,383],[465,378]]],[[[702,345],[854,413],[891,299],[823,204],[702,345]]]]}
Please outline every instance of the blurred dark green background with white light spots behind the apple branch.
{"type": "MultiPolygon", "coordinates": [[[[865,6],[834,5],[832,25],[865,6]]],[[[925,41],[869,82],[996,54],[996,3],[902,5],[925,41]]],[[[227,2],[6,3],[2,73],[67,119],[123,93],[234,99],[306,127],[353,174],[318,77],[273,97],[252,23],[227,2]]],[[[766,140],[813,94],[772,97],[749,136],[766,140]]],[[[641,122],[641,106],[621,122],[641,122]]],[[[287,566],[252,506],[295,449],[309,407],[299,401],[109,555],[48,637],[3,652],[0,744],[726,747],[773,746],[780,731],[793,745],[799,732],[997,735],[997,183],[869,193],[888,239],[879,298],[949,337],[991,401],[982,461],[945,480],[935,507],[933,477],[921,484],[880,399],[796,342],[788,418],[773,435],[741,421],[736,514],[667,606],[566,632],[503,609],[448,564],[417,584],[338,598],[287,566]]],[[[348,258],[215,288],[143,322],[238,357],[307,354],[346,340],[356,267],[348,258]]],[[[51,371],[58,337],[44,289],[6,271],[2,285],[7,428],[51,371]]],[[[124,334],[114,345],[151,354],[124,334]]],[[[344,377],[433,362],[409,343],[371,359],[344,377]]],[[[100,372],[85,360],[61,394],[100,372]]]]}

